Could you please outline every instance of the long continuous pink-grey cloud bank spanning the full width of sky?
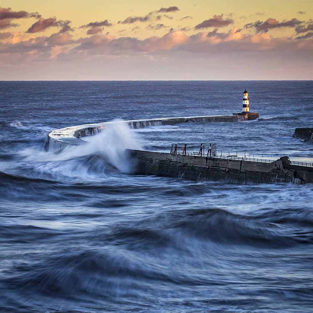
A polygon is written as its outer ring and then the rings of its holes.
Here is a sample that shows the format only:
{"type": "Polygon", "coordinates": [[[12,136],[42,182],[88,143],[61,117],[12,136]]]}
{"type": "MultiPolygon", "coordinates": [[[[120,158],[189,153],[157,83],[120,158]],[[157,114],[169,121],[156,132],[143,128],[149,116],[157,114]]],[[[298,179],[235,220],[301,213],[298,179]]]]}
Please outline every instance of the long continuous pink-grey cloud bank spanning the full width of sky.
{"type": "MultiPolygon", "coordinates": [[[[4,41],[5,42],[5,41],[4,41]]],[[[91,37],[74,40],[68,32],[55,33],[49,37],[37,37],[0,43],[0,53],[18,55],[19,59],[47,61],[55,60],[88,60],[95,57],[110,56],[112,58],[128,58],[137,55],[148,59],[157,56],[171,57],[186,54],[201,55],[202,58],[212,58],[213,55],[233,57],[234,54],[249,54],[251,57],[267,53],[270,55],[301,55],[308,58],[313,49],[313,39],[310,35],[297,38],[274,38],[268,34],[243,34],[237,28],[226,33],[199,32],[187,36],[182,31],[171,31],[162,37],[152,36],[143,40],[138,38],[115,38],[108,34],[94,34],[91,37]],[[59,48],[58,48],[59,47],[59,48]]],[[[193,57],[192,57],[193,58],[193,57]]],[[[84,61],[85,62],[85,61],[84,61]]]]}

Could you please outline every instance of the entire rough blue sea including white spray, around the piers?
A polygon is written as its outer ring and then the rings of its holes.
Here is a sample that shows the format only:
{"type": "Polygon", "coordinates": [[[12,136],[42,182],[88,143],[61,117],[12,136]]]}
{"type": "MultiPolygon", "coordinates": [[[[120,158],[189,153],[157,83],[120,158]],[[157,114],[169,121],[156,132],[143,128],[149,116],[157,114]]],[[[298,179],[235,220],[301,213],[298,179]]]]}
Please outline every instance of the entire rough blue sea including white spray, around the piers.
{"type": "Polygon", "coordinates": [[[313,311],[313,185],[230,185],[134,176],[127,148],[216,142],[218,150],[306,154],[312,81],[0,82],[1,312],[313,311]],[[54,129],[231,115],[90,137],[47,151],[54,129]],[[112,157],[114,156],[114,157],[112,157]],[[126,169],[126,170],[125,170],[126,169]]]}

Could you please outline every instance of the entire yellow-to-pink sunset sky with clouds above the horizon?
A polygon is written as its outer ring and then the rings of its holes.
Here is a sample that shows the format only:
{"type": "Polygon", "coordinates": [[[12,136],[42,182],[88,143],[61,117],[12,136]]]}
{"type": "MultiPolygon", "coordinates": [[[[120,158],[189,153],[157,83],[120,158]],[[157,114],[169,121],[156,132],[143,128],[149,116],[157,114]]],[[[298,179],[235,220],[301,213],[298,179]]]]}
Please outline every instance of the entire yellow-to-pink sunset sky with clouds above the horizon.
{"type": "Polygon", "coordinates": [[[312,80],[313,0],[1,0],[1,80],[312,80]]]}

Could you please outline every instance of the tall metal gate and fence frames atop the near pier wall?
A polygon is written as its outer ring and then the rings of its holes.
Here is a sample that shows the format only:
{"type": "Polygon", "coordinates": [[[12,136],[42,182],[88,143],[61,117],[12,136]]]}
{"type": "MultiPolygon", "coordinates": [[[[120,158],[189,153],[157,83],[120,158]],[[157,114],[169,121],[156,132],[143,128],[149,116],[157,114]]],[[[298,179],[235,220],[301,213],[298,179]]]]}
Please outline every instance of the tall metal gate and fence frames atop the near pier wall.
{"type": "Polygon", "coordinates": [[[172,154],[215,156],[216,143],[172,143],[172,154]]]}

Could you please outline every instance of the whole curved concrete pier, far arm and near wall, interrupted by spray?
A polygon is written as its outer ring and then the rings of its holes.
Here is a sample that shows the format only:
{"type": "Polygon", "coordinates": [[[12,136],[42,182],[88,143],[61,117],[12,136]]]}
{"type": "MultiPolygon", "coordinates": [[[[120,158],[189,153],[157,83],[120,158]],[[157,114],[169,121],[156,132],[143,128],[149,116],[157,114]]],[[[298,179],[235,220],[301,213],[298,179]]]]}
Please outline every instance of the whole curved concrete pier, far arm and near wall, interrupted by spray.
{"type": "MultiPolygon", "coordinates": [[[[258,113],[247,113],[244,115],[113,121],[71,126],[49,133],[49,149],[58,150],[68,145],[83,145],[86,143],[83,139],[85,136],[97,134],[114,123],[126,123],[131,128],[143,128],[185,122],[238,122],[253,120],[258,117],[258,113]]],[[[264,163],[138,150],[128,150],[128,157],[131,157],[134,163],[133,173],[139,175],[157,175],[199,181],[226,181],[235,184],[313,182],[312,167],[287,164],[284,160],[264,163]]]]}

